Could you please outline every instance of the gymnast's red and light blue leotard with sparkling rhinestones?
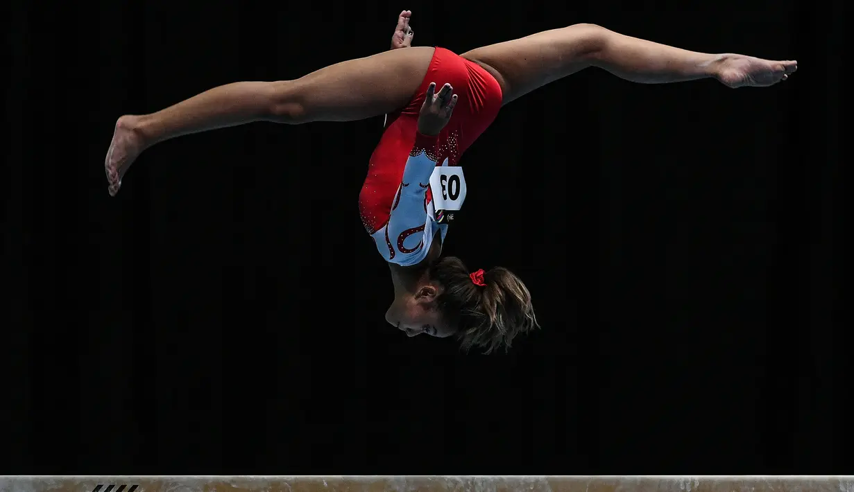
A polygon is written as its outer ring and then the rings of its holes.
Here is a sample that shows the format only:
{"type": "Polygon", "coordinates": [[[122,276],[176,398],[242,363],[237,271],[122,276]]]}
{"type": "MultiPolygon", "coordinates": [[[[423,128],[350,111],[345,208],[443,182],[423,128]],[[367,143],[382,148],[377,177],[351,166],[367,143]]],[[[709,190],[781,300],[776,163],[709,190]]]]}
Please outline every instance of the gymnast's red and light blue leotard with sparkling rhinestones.
{"type": "Polygon", "coordinates": [[[436,223],[430,175],[446,159],[447,165],[458,165],[465,149],[493,122],[501,102],[498,82],[483,67],[436,48],[407,107],[388,115],[359,196],[362,223],[386,261],[417,264],[430,251],[437,230],[444,240],[447,224],[436,223]],[[458,97],[451,120],[436,137],[418,134],[418,112],[431,82],[436,90],[451,84],[458,97]]]}

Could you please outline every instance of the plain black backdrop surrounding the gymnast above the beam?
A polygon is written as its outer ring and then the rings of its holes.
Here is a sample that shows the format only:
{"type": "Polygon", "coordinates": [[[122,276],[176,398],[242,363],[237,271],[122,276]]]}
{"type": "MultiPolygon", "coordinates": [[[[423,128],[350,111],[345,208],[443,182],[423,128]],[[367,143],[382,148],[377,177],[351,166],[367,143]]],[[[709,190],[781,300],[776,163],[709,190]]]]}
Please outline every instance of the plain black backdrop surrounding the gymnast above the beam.
{"type": "Polygon", "coordinates": [[[851,472],[841,0],[498,7],[6,4],[2,472],[851,472]],[[506,107],[446,251],[527,282],[507,355],[384,326],[382,118],[166,142],[108,197],[120,114],[371,55],[403,8],[458,53],[594,22],[800,71],[506,107]]]}

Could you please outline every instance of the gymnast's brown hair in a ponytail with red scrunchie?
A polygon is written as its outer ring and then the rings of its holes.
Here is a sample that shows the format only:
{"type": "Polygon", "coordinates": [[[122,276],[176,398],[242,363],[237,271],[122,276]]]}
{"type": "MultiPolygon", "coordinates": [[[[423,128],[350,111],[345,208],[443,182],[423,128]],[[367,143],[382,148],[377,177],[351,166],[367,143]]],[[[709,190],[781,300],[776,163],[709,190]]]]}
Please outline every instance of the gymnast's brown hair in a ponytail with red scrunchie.
{"type": "Polygon", "coordinates": [[[436,307],[450,327],[455,327],[465,350],[483,347],[485,353],[505,346],[513,338],[540,325],[536,322],[531,295],[519,277],[501,267],[483,275],[485,287],[471,281],[465,263],[445,257],[430,267],[430,279],[445,287],[436,307]]]}

